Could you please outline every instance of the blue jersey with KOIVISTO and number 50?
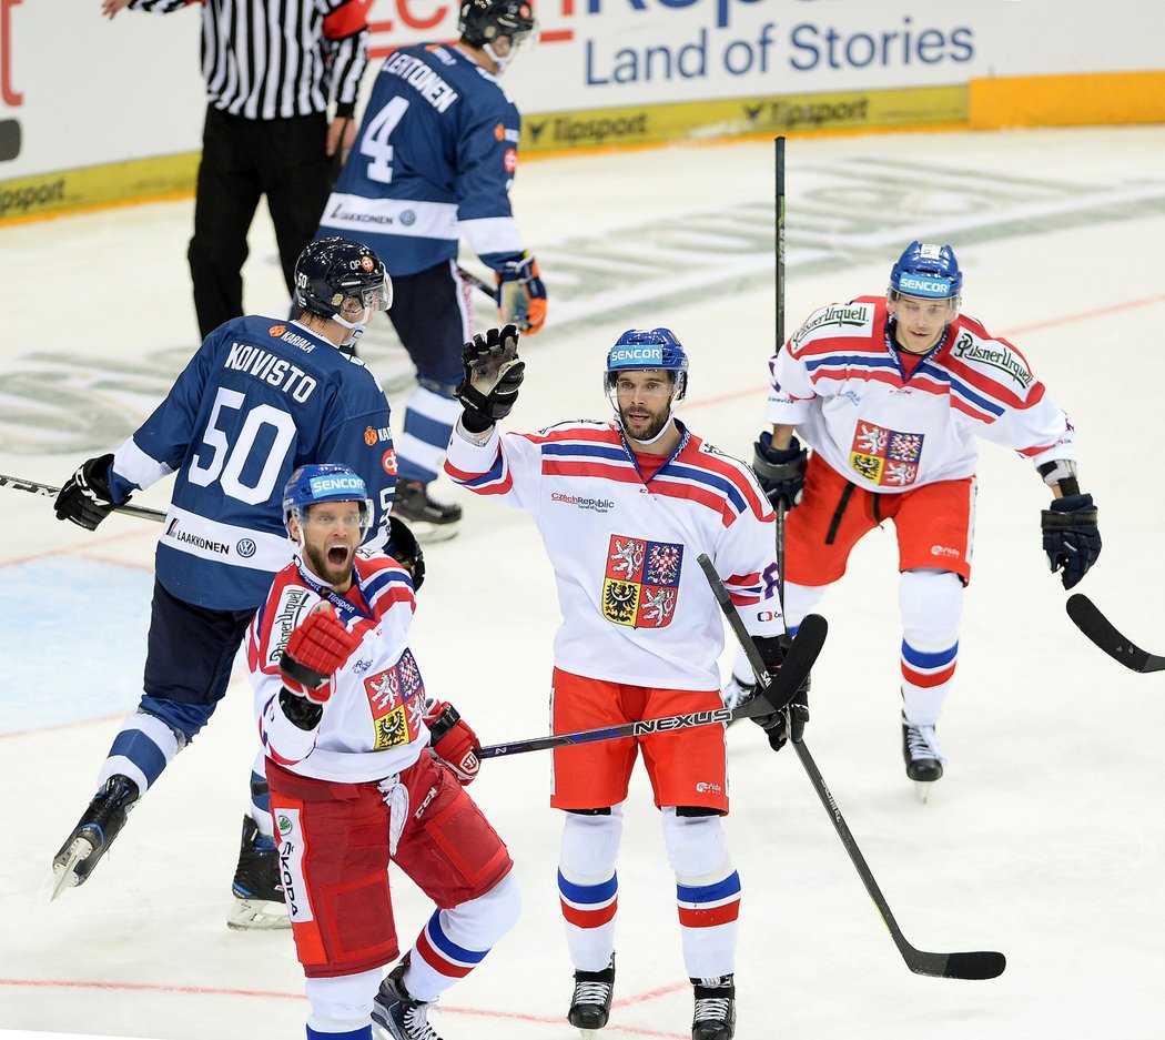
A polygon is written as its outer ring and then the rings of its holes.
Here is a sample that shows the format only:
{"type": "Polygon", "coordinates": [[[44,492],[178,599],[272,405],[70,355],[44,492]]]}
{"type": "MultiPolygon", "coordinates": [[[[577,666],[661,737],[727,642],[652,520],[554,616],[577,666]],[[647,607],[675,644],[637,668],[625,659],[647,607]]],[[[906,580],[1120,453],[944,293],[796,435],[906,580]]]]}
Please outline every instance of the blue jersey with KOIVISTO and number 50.
{"type": "Polygon", "coordinates": [[[305,463],[344,463],[367,484],[383,548],[396,486],[389,408],[375,377],[296,322],[216,329],[165,400],[114,455],[116,500],[177,471],[157,544],[158,581],[212,610],[249,610],[291,558],[283,486],[305,463]]]}

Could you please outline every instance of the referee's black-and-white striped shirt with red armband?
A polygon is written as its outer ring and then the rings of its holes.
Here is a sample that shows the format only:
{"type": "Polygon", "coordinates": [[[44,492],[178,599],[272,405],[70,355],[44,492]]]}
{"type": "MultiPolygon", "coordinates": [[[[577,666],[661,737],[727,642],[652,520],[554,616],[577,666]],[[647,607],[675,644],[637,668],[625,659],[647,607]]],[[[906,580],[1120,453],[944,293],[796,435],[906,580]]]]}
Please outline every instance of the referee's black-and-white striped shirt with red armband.
{"type": "Polygon", "coordinates": [[[156,14],[203,6],[203,77],[210,103],[246,119],[355,110],[368,64],[359,0],[132,0],[156,14]]]}

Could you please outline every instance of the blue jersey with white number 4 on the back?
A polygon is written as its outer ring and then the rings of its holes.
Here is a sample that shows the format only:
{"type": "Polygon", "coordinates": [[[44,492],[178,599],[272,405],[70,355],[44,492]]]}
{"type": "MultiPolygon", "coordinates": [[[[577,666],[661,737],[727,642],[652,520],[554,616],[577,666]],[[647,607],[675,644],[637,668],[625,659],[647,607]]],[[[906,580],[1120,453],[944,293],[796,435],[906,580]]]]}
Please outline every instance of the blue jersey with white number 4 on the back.
{"type": "Polygon", "coordinates": [[[501,270],[524,248],[509,201],[521,126],[497,80],[456,47],[394,51],[318,237],[365,243],[395,277],[454,259],[464,234],[501,270]]]}

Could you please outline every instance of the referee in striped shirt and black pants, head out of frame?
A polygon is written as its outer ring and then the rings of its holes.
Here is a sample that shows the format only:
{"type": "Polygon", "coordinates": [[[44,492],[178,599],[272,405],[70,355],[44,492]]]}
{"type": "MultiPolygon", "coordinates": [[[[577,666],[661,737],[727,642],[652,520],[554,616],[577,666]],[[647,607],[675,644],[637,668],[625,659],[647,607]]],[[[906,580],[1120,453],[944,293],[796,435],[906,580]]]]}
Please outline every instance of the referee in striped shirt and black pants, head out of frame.
{"type": "Polygon", "coordinates": [[[205,338],[243,312],[247,232],[262,195],[294,294],[295,262],[324,211],[332,157],[338,163],[355,140],[368,22],[359,0],[101,0],[101,14],[169,14],[190,2],[203,5],[209,104],[186,257],[205,338]]]}

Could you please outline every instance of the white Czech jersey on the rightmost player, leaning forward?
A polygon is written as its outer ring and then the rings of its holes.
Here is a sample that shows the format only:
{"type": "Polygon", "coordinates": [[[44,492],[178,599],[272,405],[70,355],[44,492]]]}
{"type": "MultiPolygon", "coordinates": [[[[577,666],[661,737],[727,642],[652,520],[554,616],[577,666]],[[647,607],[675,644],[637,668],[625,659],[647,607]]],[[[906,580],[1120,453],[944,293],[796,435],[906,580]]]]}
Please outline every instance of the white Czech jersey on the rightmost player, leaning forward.
{"type": "Polygon", "coordinates": [[[884,296],[814,311],[769,361],[765,419],[859,487],[910,491],[973,476],[976,437],[1036,465],[1075,459],[1072,427],[1005,339],[959,315],[903,379],[884,296]]]}

